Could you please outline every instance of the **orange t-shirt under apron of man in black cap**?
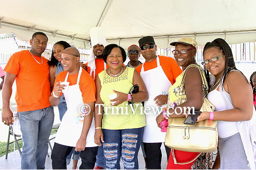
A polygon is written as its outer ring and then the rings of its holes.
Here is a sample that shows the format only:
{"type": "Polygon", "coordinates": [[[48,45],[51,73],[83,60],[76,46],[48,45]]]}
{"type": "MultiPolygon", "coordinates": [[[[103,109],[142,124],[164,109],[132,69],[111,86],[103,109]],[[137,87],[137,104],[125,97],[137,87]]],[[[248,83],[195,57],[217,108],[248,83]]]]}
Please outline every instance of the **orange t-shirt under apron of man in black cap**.
{"type": "MultiPolygon", "coordinates": [[[[162,66],[163,72],[165,73],[166,77],[170,81],[170,83],[174,84],[176,78],[181,74],[182,70],[177,62],[172,57],[166,56],[158,56],[160,65],[162,66]]],[[[144,71],[153,69],[157,67],[157,60],[153,60],[151,62],[144,63],[144,71]]],[[[139,72],[141,71],[142,64],[140,64],[136,70],[139,72]]]]}

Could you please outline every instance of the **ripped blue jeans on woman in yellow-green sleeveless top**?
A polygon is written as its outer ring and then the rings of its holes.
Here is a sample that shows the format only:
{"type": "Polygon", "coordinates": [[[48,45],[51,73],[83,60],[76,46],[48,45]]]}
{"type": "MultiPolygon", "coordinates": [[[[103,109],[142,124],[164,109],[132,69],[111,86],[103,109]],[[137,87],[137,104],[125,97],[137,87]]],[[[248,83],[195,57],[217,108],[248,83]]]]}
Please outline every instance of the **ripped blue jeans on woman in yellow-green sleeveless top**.
{"type": "Polygon", "coordinates": [[[122,158],[124,169],[139,169],[138,152],[144,127],[136,129],[102,129],[103,152],[106,169],[120,169],[122,158]]]}

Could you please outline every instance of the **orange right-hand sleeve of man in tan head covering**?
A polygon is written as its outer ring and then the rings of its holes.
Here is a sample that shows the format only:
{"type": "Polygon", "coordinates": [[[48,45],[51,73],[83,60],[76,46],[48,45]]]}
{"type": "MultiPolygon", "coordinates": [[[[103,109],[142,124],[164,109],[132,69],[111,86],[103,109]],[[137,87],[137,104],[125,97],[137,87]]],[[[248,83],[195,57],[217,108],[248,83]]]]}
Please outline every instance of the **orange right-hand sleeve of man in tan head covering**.
{"type": "Polygon", "coordinates": [[[96,87],[93,78],[88,72],[82,72],[83,77],[80,79],[80,90],[82,92],[83,103],[95,102],[96,87]]]}

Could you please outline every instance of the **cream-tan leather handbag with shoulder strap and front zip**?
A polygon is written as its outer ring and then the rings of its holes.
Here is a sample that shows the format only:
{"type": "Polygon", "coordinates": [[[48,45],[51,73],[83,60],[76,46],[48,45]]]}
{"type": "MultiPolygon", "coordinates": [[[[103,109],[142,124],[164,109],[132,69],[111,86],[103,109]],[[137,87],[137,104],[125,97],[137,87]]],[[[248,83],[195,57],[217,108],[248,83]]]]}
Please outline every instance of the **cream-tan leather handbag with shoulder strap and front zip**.
{"type": "MultiPolygon", "coordinates": [[[[184,72],[180,91],[179,99],[176,102],[177,105],[182,104],[186,101],[184,79],[186,71],[189,67],[197,67],[200,71],[203,84],[203,106],[200,111],[214,111],[216,110],[214,105],[205,98],[208,90],[208,85],[205,76],[200,70],[198,65],[189,65],[184,72]]],[[[168,118],[168,127],[165,137],[165,145],[169,148],[186,151],[186,152],[214,152],[217,151],[218,145],[218,131],[216,120],[203,120],[196,123],[195,125],[185,125],[183,122],[185,117],[179,118],[168,118]]],[[[199,154],[200,155],[200,154],[199,154]]],[[[188,163],[188,162],[186,162],[188,163]]]]}

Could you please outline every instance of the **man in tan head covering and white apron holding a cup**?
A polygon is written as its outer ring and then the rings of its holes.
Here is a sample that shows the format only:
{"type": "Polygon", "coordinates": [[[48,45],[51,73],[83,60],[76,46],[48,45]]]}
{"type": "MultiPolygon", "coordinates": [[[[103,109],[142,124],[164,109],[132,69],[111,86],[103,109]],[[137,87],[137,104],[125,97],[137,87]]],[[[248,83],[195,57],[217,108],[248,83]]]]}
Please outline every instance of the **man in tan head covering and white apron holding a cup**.
{"type": "Polygon", "coordinates": [[[98,147],[94,143],[93,120],[96,89],[92,77],[80,67],[79,56],[75,47],[62,52],[64,71],[57,75],[49,98],[51,105],[56,106],[63,92],[68,108],[55,138],[51,155],[53,169],[67,169],[66,157],[73,147],[80,151],[82,163],[79,169],[93,169],[96,162],[98,147]]]}

